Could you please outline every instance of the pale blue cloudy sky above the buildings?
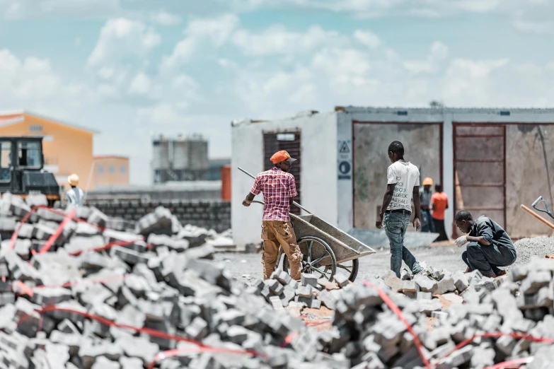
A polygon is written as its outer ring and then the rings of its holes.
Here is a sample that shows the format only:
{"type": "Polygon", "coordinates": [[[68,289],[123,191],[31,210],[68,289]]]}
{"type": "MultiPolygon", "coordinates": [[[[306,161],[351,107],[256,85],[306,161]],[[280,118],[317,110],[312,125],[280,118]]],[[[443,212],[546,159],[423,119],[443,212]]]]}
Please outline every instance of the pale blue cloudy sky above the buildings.
{"type": "Polygon", "coordinates": [[[144,184],[152,135],[230,156],[232,119],[552,106],[553,20],[554,0],[0,0],[0,110],[96,127],[144,184]]]}

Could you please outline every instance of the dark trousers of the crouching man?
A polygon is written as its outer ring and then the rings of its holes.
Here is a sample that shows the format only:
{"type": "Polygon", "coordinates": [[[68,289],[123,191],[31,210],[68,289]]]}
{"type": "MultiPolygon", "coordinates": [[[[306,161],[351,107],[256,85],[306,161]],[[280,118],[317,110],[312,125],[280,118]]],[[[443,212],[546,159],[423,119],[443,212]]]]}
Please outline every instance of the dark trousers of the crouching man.
{"type": "Polygon", "coordinates": [[[469,242],[466,251],[462,253],[462,260],[471,270],[478,269],[483,276],[500,273],[498,266],[514,264],[517,255],[514,246],[481,245],[478,242],[469,242]]]}

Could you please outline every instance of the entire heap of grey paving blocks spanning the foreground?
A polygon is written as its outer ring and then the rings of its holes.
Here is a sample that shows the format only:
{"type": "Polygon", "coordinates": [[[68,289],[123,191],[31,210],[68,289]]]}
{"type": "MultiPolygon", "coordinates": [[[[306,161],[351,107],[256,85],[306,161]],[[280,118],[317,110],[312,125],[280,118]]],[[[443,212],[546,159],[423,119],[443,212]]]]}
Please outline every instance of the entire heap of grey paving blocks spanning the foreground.
{"type": "Polygon", "coordinates": [[[551,259],[514,266],[504,283],[426,266],[368,286],[340,275],[330,283],[302,274],[298,283],[284,271],[246,286],[209,260],[213,235],[183,227],[168,209],[129,223],[87,207],[74,219],[71,209],[31,213],[43,204],[0,201],[0,369],[465,369],[516,358],[542,369],[553,361],[551,259]],[[443,309],[446,296],[458,303],[443,309]],[[290,313],[304,307],[334,310],[332,327],[318,332],[290,313]]]}

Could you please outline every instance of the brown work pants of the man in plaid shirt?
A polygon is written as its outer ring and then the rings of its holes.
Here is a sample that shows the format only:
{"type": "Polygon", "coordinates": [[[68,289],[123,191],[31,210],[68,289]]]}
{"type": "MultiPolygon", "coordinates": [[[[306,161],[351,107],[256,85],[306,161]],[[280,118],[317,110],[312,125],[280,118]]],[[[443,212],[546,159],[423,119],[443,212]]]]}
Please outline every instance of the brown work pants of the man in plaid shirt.
{"type": "Polygon", "coordinates": [[[281,245],[289,259],[292,279],[300,281],[302,253],[296,243],[292,224],[282,221],[262,221],[262,240],[263,279],[269,279],[273,273],[277,263],[277,254],[279,254],[279,245],[281,245]]]}

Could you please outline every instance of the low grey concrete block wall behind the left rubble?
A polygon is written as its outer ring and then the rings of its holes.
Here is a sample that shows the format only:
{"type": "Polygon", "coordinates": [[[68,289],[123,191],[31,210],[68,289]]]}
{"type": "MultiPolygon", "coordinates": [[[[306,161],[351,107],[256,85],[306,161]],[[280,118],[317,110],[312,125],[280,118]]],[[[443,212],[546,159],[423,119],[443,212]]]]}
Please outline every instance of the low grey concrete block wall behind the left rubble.
{"type": "Polygon", "coordinates": [[[177,216],[183,225],[213,228],[223,232],[231,228],[231,203],[227,201],[200,200],[93,200],[86,201],[88,206],[95,206],[108,216],[138,221],[157,206],[164,206],[177,216]]]}

